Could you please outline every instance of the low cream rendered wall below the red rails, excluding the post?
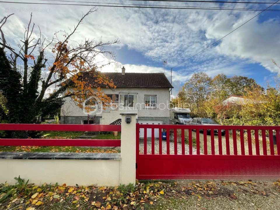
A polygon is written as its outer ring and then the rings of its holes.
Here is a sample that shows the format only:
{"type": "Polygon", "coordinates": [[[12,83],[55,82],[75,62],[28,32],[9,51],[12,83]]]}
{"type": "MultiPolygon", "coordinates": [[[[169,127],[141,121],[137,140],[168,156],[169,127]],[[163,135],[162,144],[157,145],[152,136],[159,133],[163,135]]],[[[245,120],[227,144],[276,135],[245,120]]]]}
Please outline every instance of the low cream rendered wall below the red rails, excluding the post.
{"type": "Polygon", "coordinates": [[[115,186],[120,184],[120,160],[0,159],[0,183],[14,184],[20,175],[29,183],[115,186]]]}

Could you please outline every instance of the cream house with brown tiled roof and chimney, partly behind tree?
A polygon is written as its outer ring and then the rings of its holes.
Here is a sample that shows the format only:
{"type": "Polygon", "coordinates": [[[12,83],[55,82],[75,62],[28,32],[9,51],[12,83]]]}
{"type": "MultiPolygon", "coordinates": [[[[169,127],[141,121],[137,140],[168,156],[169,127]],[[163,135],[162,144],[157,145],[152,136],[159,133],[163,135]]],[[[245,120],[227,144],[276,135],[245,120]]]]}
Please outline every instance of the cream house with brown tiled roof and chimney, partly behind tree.
{"type": "MultiPolygon", "coordinates": [[[[94,111],[88,113],[79,108],[71,99],[66,98],[61,108],[62,124],[120,124],[120,113],[137,113],[139,123],[169,124],[169,102],[172,85],[163,73],[104,73],[112,79],[115,89],[103,88],[107,96],[111,97],[112,105],[102,110],[97,105],[89,105],[94,111]],[[96,107],[95,107],[96,106],[96,107]]],[[[84,77],[88,75],[84,74],[84,77]]],[[[94,78],[88,82],[94,82],[94,78]]]]}

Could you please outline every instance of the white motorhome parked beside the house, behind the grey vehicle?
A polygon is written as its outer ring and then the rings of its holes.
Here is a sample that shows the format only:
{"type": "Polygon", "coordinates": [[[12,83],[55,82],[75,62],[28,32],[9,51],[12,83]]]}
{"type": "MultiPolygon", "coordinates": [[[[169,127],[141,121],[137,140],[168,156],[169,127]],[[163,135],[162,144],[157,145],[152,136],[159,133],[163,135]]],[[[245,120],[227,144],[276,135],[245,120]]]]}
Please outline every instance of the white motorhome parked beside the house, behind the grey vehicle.
{"type": "Polygon", "coordinates": [[[189,108],[171,108],[170,123],[176,125],[189,125],[192,118],[190,117],[189,108]]]}

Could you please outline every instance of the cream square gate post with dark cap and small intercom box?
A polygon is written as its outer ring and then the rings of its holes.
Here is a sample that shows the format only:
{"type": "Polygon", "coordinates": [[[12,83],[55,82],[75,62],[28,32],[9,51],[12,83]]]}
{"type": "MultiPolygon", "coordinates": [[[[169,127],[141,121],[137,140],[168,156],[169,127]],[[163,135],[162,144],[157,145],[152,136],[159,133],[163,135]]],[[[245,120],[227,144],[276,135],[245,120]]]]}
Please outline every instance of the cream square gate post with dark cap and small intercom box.
{"type": "Polygon", "coordinates": [[[136,113],[120,113],[122,116],[121,129],[121,161],[120,161],[120,184],[135,186],[136,179],[136,113]],[[126,122],[130,117],[131,122],[126,122]]]}

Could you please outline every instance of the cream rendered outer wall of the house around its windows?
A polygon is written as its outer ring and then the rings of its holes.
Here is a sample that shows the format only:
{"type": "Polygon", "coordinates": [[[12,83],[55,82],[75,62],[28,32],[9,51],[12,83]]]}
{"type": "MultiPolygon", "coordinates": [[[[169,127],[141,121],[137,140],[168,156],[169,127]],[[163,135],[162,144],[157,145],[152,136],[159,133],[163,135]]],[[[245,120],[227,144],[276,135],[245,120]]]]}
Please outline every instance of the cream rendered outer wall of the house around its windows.
{"type": "MultiPolygon", "coordinates": [[[[103,89],[103,91],[106,94],[119,94],[120,92],[138,93],[137,103],[139,105],[137,107],[135,107],[138,110],[137,111],[138,117],[150,117],[155,120],[157,120],[156,118],[158,118],[158,117],[160,117],[160,118],[165,117],[165,118],[169,119],[169,106],[167,105],[167,104],[169,104],[169,101],[170,101],[169,88],[116,88],[115,90],[110,90],[110,89],[105,88],[105,89],[103,89]],[[158,108],[144,108],[144,95],[157,95],[157,104],[159,107],[158,108]],[[140,105],[140,104],[142,104],[142,105],[140,105]]],[[[114,103],[114,104],[118,107],[118,103],[114,103]]],[[[135,108],[131,108],[131,109],[135,110],[135,108]]],[[[115,110],[107,109],[105,111],[106,113],[111,113],[110,116],[112,116],[111,119],[109,118],[108,120],[105,120],[106,124],[110,124],[111,122],[113,122],[119,118],[119,113],[121,111],[117,111],[117,110],[118,110],[118,108],[116,108],[115,110]]],[[[132,111],[130,110],[129,112],[132,112],[132,111]]],[[[69,119],[67,121],[70,123],[77,122],[78,120],[76,120],[76,119],[80,119],[83,116],[86,117],[86,119],[87,119],[87,115],[88,115],[87,113],[85,113],[83,111],[83,109],[76,106],[76,104],[73,101],[71,101],[69,98],[66,98],[66,101],[61,108],[60,114],[62,116],[62,119],[63,119],[63,116],[67,116],[67,118],[69,119]],[[80,118],[76,118],[76,117],[80,117],[80,118]]],[[[94,113],[91,113],[91,114],[94,114],[94,113]]],[[[96,116],[105,118],[105,117],[103,117],[102,113],[96,114],[96,116]]],[[[61,120],[61,123],[63,123],[62,120],[61,120]]],[[[103,120],[102,124],[105,124],[104,120],[103,120]]]]}

